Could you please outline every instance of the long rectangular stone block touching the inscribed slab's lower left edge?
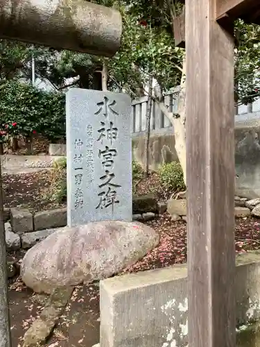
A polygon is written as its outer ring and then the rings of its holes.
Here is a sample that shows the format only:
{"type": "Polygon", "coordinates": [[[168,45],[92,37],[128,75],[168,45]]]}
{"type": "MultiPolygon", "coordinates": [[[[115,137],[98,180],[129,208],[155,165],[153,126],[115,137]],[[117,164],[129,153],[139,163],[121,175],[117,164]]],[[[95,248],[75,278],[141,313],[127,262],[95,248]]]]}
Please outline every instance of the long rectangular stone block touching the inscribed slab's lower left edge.
{"type": "Polygon", "coordinates": [[[35,213],[35,230],[58,228],[61,226],[67,226],[67,208],[35,213]]]}

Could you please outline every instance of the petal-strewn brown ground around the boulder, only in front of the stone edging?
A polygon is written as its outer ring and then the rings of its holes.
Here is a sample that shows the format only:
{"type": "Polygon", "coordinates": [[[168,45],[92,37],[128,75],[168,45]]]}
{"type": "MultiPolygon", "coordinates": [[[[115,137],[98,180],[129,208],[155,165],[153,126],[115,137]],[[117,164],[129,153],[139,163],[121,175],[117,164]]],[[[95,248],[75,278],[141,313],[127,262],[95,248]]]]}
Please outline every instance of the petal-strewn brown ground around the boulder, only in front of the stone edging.
{"type": "MultiPolygon", "coordinates": [[[[173,222],[165,215],[148,223],[160,234],[157,248],[148,253],[122,273],[134,273],[157,269],[187,259],[186,223],[173,222]]],[[[260,246],[260,221],[256,219],[236,220],[236,252],[254,250],[260,246]]],[[[21,254],[19,254],[21,257],[21,254]]],[[[12,346],[22,346],[24,332],[37,318],[44,305],[44,296],[38,296],[17,278],[10,283],[10,315],[12,346]]],[[[45,346],[92,347],[99,341],[99,288],[98,284],[76,287],[66,311],[45,346]]]]}

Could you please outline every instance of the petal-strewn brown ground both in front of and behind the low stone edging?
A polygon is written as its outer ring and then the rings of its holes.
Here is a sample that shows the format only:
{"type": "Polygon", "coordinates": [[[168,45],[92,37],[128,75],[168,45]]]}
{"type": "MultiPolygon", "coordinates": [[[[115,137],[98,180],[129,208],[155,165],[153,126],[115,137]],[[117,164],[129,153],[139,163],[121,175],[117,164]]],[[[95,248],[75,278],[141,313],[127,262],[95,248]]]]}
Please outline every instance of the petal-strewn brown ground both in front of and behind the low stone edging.
{"type": "MultiPolygon", "coordinates": [[[[48,172],[3,177],[5,204],[8,207],[26,206],[32,210],[51,208],[41,192],[48,187],[48,172]]],[[[143,191],[148,184],[141,185],[143,191]]],[[[147,222],[160,235],[159,246],[134,266],[122,273],[157,269],[187,260],[187,225],[184,221],[171,221],[168,214],[147,222]]],[[[236,253],[260,248],[260,219],[236,220],[236,253]]],[[[17,259],[23,253],[13,253],[17,259]]],[[[12,346],[22,346],[24,332],[40,314],[45,296],[33,294],[19,278],[9,285],[12,346]]],[[[98,284],[76,287],[66,311],[46,342],[49,347],[92,347],[99,341],[99,288],[98,284]]]]}

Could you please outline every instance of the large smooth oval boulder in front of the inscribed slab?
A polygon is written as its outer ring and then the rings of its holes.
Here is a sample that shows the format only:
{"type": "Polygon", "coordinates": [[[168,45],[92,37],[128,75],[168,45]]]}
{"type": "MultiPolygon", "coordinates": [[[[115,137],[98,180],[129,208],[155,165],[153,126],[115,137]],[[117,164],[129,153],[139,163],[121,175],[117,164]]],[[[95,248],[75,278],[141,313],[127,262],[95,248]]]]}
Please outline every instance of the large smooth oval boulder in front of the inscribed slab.
{"type": "Polygon", "coordinates": [[[24,283],[51,294],[57,287],[109,278],[135,264],[159,243],[159,235],[139,222],[99,221],[60,228],[25,255],[24,283]]]}

